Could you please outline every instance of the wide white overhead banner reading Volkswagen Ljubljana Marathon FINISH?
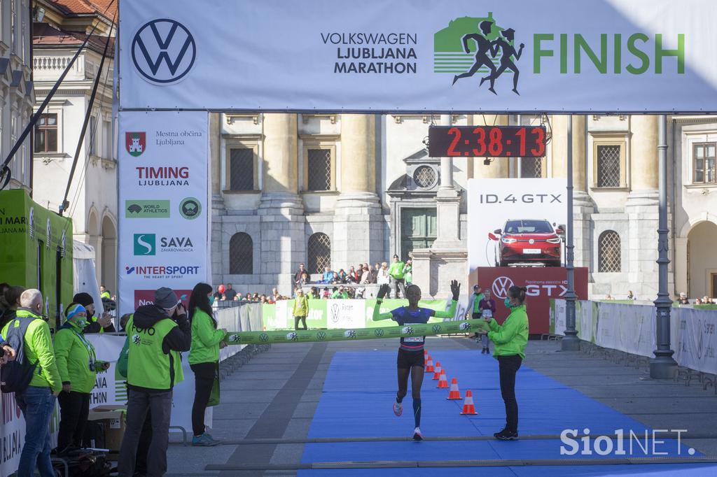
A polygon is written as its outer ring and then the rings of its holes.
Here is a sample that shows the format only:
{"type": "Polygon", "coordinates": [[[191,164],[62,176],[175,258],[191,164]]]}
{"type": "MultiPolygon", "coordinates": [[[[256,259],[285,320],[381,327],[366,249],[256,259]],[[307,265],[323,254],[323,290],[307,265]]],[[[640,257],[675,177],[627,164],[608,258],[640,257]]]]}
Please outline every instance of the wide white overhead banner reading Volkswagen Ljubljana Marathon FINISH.
{"type": "Polygon", "coordinates": [[[717,111],[713,0],[123,0],[120,108],[717,111]]]}

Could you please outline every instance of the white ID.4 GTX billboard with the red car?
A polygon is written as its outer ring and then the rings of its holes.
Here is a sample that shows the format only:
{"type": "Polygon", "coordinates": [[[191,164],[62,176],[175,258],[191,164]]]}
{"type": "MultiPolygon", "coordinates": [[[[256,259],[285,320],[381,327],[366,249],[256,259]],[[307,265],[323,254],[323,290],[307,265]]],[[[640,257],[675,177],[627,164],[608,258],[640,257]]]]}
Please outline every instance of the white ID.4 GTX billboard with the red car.
{"type": "Polygon", "coordinates": [[[533,261],[561,264],[556,229],[567,223],[566,186],[565,179],[468,180],[469,272],[533,261]]]}

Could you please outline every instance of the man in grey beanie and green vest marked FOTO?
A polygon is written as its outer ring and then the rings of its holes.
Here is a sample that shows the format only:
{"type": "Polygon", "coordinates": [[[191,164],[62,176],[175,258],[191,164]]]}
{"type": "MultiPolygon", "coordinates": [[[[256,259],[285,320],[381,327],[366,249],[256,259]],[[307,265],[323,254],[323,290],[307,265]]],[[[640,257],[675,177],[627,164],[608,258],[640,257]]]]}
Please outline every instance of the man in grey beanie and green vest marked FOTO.
{"type": "Polygon", "coordinates": [[[132,477],[137,446],[148,410],[152,414],[147,475],[167,471],[172,389],[184,380],[182,351],[191,347],[186,309],[170,288],[154,292],[154,303],[139,307],[128,319],[127,428],[120,448],[118,475],[132,477]]]}

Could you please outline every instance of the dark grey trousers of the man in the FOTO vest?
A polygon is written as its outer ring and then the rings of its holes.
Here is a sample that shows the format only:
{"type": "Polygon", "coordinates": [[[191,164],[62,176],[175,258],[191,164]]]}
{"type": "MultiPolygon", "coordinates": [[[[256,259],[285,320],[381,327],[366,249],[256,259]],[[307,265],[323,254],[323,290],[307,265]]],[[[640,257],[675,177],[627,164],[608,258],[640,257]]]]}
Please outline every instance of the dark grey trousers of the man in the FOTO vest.
{"type": "Polygon", "coordinates": [[[130,387],[127,402],[127,428],[122,439],[118,475],[132,477],[137,448],[147,411],[152,413],[152,441],[147,456],[147,476],[161,477],[167,471],[169,420],[172,413],[172,391],[146,391],[130,387]]]}

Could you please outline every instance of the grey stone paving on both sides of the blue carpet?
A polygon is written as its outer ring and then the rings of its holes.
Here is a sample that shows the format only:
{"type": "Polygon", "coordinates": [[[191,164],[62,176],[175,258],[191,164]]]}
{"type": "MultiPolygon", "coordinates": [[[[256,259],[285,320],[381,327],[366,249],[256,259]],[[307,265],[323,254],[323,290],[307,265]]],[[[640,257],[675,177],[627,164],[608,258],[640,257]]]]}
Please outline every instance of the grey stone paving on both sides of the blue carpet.
{"type": "MultiPolygon", "coordinates": [[[[300,463],[305,450],[303,441],[308,437],[333,355],[340,351],[394,351],[397,347],[394,341],[284,344],[256,355],[222,382],[222,404],[214,408],[212,435],[224,440],[224,444],[214,448],[171,444],[167,475],[296,475],[296,471],[206,471],[205,467],[300,463]]],[[[475,342],[466,338],[432,337],[428,338],[427,347],[476,350],[480,355],[475,342]]],[[[556,342],[529,342],[525,364],[644,423],[646,428],[687,429],[698,438],[684,440],[685,445],[707,456],[717,456],[717,396],[713,390],[703,391],[694,382],[685,387],[671,380],[653,381],[644,367],[636,370],[581,352],[558,350],[556,342]]],[[[394,374],[395,368],[386,372],[394,374]]],[[[410,408],[410,400],[408,403],[410,408]]]]}

